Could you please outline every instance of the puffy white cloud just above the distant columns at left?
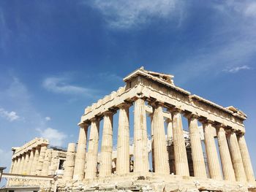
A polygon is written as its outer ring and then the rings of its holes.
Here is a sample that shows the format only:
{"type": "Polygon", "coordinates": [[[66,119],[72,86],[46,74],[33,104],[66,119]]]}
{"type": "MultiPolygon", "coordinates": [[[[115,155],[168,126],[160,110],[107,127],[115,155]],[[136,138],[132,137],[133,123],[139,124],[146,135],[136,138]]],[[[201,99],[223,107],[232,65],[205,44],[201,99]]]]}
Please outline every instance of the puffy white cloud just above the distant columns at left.
{"type": "Polygon", "coordinates": [[[50,145],[61,146],[64,142],[64,139],[67,138],[67,134],[64,134],[54,128],[45,128],[43,130],[37,128],[36,130],[39,131],[41,137],[49,140],[50,145]]]}

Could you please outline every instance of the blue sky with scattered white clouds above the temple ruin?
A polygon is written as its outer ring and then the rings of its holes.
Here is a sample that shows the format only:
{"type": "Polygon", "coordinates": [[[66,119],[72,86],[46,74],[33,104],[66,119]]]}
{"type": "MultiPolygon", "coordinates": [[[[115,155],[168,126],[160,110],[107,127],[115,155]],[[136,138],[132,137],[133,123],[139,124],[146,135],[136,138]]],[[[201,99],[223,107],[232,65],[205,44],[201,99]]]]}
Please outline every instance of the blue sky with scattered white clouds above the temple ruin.
{"type": "Polygon", "coordinates": [[[144,66],[243,110],[256,170],[255,31],[255,1],[0,1],[0,166],[34,137],[76,142],[84,108],[144,66]]]}

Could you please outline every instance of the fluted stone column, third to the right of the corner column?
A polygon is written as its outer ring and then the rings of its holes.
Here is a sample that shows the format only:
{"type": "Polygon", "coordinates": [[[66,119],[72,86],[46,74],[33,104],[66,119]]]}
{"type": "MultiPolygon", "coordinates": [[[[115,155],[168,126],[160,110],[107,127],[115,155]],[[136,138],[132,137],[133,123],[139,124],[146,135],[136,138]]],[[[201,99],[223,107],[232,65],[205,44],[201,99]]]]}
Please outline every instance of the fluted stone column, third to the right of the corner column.
{"type": "Polygon", "coordinates": [[[190,115],[188,117],[188,121],[194,174],[195,177],[206,178],[206,165],[203,158],[203,149],[197,124],[197,116],[190,115]]]}

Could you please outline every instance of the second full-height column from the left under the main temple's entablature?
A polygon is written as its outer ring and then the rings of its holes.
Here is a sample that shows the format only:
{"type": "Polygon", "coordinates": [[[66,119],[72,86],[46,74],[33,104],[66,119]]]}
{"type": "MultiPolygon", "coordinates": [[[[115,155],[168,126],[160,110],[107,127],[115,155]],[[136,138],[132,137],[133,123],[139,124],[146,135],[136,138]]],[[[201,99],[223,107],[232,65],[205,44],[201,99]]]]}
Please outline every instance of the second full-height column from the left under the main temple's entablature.
{"type": "Polygon", "coordinates": [[[97,176],[97,158],[99,145],[99,119],[91,119],[91,131],[86,156],[86,179],[93,179],[97,176]]]}

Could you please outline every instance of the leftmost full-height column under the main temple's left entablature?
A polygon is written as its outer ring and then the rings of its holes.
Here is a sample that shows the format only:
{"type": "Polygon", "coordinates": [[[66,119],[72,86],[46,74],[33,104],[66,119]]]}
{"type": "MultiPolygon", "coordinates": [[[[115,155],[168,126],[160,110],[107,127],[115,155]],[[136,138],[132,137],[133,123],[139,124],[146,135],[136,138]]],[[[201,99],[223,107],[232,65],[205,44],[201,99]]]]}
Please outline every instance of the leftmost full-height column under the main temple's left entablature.
{"type": "Polygon", "coordinates": [[[86,141],[87,141],[87,131],[88,124],[80,123],[80,131],[78,137],[78,148],[75,154],[75,168],[73,180],[83,180],[84,178],[84,168],[86,165],[86,141]]]}

